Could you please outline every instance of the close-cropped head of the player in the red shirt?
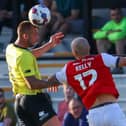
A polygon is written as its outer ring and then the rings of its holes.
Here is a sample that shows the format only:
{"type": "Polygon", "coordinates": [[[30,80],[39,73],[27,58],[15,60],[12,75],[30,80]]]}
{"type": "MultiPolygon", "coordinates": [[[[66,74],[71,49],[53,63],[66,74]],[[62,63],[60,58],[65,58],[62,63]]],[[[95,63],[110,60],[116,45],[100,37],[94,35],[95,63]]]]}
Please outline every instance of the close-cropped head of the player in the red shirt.
{"type": "Polygon", "coordinates": [[[90,45],[84,37],[77,37],[71,43],[72,53],[76,59],[80,59],[90,53],[90,45]]]}

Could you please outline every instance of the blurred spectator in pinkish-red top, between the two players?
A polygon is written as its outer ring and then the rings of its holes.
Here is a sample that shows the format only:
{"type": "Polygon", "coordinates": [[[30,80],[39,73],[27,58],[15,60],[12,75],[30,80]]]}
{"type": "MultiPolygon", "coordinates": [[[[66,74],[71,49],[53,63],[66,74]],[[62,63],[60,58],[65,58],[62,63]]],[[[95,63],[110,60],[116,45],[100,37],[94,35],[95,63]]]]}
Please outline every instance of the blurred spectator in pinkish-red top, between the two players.
{"type": "Polygon", "coordinates": [[[63,85],[63,93],[64,93],[64,100],[59,102],[58,104],[58,118],[61,122],[63,122],[63,118],[66,112],[68,112],[68,103],[69,101],[75,96],[74,90],[68,86],[63,85]]]}

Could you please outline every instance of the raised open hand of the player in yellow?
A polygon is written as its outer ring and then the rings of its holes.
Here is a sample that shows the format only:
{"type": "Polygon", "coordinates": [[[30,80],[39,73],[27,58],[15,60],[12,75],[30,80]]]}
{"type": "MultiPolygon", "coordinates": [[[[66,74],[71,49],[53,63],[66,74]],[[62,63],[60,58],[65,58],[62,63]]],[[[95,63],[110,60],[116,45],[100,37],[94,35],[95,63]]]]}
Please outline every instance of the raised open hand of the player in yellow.
{"type": "Polygon", "coordinates": [[[50,37],[49,42],[52,44],[52,47],[55,47],[57,44],[61,43],[63,38],[64,34],[62,32],[58,32],[50,37]]]}

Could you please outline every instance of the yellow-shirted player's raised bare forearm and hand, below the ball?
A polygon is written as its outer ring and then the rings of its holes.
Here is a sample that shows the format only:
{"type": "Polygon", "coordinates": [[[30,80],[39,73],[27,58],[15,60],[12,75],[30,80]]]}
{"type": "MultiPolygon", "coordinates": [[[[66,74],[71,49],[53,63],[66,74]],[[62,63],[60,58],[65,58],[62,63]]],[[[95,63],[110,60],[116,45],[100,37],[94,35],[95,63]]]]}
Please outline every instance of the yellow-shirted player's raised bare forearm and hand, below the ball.
{"type": "Polygon", "coordinates": [[[60,44],[63,38],[64,34],[62,32],[55,33],[50,37],[49,42],[47,42],[39,48],[33,49],[32,54],[37,58],[42,56],[42,54],[55,47],[57,44],[60,44]]]}

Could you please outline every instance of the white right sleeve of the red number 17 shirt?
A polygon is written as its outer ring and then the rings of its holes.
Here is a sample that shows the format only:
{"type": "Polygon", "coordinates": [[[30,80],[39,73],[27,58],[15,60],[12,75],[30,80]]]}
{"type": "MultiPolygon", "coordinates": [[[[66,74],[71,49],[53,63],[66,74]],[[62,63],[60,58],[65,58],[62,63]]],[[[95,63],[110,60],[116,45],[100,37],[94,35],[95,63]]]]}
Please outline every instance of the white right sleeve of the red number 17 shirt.
{"type": "Polygon", "coordinates": [[[116,67],[117,61],[119,59],[118,56],[112,56],[112,55],[107,54],[107,53],[101,53],[101,56],[102,56],[104,64],[107,67],[116,67]]]}

